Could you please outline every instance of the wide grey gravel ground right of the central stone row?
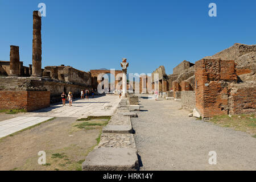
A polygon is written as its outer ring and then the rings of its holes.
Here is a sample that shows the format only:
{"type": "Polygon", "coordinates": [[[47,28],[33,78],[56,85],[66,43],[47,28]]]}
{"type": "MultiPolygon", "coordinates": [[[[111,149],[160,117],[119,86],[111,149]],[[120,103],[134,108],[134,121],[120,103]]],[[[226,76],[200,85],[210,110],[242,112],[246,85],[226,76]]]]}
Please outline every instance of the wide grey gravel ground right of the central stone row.
{"type": "Polygon", "coordinates": [[[141,170],[256,170],[255,138],[188,117],[180,101],[159,99],[139,98],[142,111],[131,118],[141,170]],[[216,151],[216,165],[208,163],[209,151],[216,151]]]}

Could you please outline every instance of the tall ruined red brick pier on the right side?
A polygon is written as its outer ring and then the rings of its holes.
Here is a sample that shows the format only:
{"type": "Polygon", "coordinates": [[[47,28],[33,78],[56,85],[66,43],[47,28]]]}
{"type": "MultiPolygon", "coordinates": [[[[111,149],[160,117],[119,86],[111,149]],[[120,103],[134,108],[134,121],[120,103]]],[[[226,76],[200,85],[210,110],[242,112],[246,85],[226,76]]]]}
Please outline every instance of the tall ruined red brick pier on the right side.
{"type": "Polygon", "coordinates": [[[228,114],[229,84],[237,81],[235,68],[236,64],[230,60],[202,59],[196,62],[196,108],[202,117],[228,114]]]}

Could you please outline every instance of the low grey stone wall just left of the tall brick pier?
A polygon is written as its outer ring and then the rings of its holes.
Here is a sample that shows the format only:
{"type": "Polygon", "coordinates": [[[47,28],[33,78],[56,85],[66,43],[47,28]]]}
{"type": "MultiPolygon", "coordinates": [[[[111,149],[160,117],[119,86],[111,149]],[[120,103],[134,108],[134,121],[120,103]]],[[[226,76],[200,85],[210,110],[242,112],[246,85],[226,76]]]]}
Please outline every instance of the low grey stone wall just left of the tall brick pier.
{"type": "Polygon", "coordinates": [[[181,106],[183,109],[194,109],[196,106],[195,91],[181,91],[181,106]]]}

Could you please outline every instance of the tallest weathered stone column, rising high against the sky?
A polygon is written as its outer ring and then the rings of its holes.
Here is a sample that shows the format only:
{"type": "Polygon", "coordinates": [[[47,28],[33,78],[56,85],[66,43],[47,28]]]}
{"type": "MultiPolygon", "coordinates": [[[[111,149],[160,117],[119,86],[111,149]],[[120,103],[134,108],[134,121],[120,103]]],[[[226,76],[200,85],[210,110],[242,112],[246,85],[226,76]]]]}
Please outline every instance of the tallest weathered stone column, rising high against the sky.
{"type": "Polygon", "coordinates": [[[33,49],[32,49],[32,76],[42,76],[42,40],[41,16],[39,11],[33,11],[33,49]]]}

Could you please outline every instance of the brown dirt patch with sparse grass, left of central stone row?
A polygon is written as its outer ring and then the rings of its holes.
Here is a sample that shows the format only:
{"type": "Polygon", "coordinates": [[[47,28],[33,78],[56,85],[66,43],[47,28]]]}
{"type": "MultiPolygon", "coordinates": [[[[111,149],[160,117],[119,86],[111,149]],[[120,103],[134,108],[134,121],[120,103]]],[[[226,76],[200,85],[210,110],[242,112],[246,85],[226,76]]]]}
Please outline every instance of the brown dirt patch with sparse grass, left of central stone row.
{"type": "MultiPolygon", "coordinates": [[[[16,114],[15,114],[16,116],[16,114]]],[[[77,127],[77,118],[52,121],[0,140],[0,170],[81,170],[86,155],[97,145],[106,119],[92,119],[100,125],[77,127]],[[38,164],[38,152],[46,152],[46,164],[38,164]]],[[[82,125],[84,126],[84,125],[82,125]]]]}

